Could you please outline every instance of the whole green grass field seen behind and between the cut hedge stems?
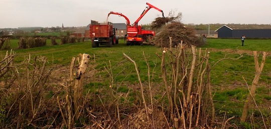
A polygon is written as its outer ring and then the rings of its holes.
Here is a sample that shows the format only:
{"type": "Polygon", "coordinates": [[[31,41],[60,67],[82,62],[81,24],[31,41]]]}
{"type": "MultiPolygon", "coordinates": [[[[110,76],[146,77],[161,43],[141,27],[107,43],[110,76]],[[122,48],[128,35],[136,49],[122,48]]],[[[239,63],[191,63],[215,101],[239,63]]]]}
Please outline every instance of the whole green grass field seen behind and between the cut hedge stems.
{"type": "MultiPolygon", "coordinates": [[[[144,85],[148,85],[149,81],[146,64],[146,60],[148,60],[152,74],[152,85],[155,90],[163,90],[161,87],[163,80],[161,77],[160,59],[162,48],[157,46],[126,46],[124,40],[120,40],[119,44],[115,44],[112,47],[101,46],[92,48],[89,40],[61,45],[51,45],[50,40],[47,40],[47,45],[44,47],[18,49],[17,42],[18,40],[11,40],[11,46],[16,53],[14,59],[16,63],[25,61],[29,55],[32,58],[35,56],[47,57],[46,65],[53,68],[52,75],[54,76],[49,79],[48,85],[50,86],[59,86],[60,83],[64,84],[65,79],[69,76],[69,66],[72,57],[77,57],[79,53],[88,53],[90,55],[89,67],[87,68],[85,80],[83,80],[85,93],[88,90],[99,93],[99,90],[108,89],[108,85],[112,81],[111,76],[113,76],[114,83],[119,85],[119,92],[127,93],[132,89],[135,90],[134,85],[138,83],[137,72],[135,72],[134,65],[124,57],[123,53],[125,53],[137,63],[144,85]],[[110,75],[106,69],[111,70],[110,75]]],[[[57,42],[60,41],[57,40],[57,42]]],[[[267,119],[268,117],[270,118],[270,114],[268,114],[270,113],[268,109],[271,104],[270,39],[246,39],[244,46],[241,46],[239,39],[207,39],[207,44],[196,48],[197,50],[201,48],[203,51],[210,52],[209,62],[212,67],[210,83],[213,90],[216,115],[221,115],[222,117],[224,115],[227,117],[235,116],[237,118],[242,114],[243,103],[249,92],[247,85],[252,84],[255,74],[253,50],[258,51],[259,61],[261,61],[261,52],[266,51],[266,61],[257,85],[255,102],[267,119]],[[238,57],[240,58],[235,59],[238,57]],[[223,58],[225,59],[220,60],[223,58]]],[[[7,50],[0,51],[1,60],[5,57],[6,52],[7,50]]],[[[0,78],[0,81],[4,81],[3,78],[0,78]]],[[[55,91],[51,90],[50,92],[55,91]]],[[[161,94],[154,93],[153,97],[159,98],[161,94]]],[[[131,97],[131,99],[135,98],[131,97]]],[[[256,109],[250,109],[250,111],[253,110],[256,112],[255,116],[260,117],[260,113],[256,109]]],[[[236,119],[232,122],[236,121],[238,120],[236,119]]],[[[240,126],[250,127],[247,124],[240,124],[240,126]]],[[[261,126],[261,120],[259,120],[259,123],[255,122],[255,124],[261,126]]]]}

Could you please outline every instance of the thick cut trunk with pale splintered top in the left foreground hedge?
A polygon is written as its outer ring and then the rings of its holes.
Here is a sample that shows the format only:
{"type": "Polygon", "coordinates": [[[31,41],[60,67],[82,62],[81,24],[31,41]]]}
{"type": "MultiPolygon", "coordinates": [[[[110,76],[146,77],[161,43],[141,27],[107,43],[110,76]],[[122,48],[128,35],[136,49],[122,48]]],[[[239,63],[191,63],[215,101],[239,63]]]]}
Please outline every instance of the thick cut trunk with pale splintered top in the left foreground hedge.
{"type": "Polygon", "coordinates": [[[85,70],[88,65],[88,60],[90,58],[90,55],[87,53],[82,54],[82,59],[80,61],[77,73],[76,73],[76,80],[75,80],[75,85],[74,85],[74,109],[75,109],[75,119],[78,119],[80,116],[79,112],[79,107],[82,105],[82,93],[83,93],[83,87],[82,87],[82,80],[84,77],[85,70]]]}

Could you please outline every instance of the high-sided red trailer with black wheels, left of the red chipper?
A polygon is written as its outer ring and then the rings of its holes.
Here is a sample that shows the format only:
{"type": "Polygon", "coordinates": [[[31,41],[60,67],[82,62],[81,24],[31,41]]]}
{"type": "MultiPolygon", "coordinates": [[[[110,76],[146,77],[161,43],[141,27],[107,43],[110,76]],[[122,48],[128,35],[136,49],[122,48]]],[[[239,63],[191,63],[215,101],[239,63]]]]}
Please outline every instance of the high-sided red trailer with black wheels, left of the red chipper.
{"type": "Polygon", "coordinates": [[[102,44],[111,47],[113,44],[118,43],[118,37],[115,36],[115,28],[111,22],[98,23],[91,20],[89,30],[92,47],[98,47],[102,44]]]}

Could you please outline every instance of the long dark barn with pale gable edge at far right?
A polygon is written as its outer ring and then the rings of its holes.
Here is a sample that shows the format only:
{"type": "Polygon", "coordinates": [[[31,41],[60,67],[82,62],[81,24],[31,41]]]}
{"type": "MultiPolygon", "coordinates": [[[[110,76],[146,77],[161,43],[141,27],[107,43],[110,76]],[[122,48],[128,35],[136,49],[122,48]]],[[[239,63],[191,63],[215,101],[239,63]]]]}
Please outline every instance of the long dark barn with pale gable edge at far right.
{"type": "Polygon", "coordinates": [[[216,29],[218,37],[246,37],[271,38],[271,25],[269,24],[229,24],[216,29]]]}

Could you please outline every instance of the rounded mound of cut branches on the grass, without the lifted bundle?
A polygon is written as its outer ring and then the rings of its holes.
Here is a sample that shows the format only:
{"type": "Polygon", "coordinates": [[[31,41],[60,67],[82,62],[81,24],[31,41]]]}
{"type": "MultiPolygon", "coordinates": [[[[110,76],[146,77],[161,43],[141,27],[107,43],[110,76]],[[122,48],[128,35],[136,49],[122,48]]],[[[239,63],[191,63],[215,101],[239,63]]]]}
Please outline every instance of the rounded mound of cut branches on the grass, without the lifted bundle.
{"type": "Polygon", "coordinates": [[[200,45],[202,41],[195,35],[194,28],[187,27],[181,22],[169,23],[154,38],[158,46],[169,47],[170,37],[172,37],[172,46],[178,45],[181,40],[188,45],[200,45]]]}

